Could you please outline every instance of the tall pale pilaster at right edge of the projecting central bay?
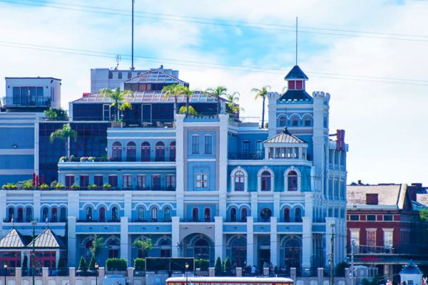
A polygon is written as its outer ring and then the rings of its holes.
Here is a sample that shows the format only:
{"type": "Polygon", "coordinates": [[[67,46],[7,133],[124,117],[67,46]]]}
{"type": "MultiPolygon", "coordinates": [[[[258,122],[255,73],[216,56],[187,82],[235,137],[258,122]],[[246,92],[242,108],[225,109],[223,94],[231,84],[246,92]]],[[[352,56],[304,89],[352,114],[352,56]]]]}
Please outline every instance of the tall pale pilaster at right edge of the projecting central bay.
{"type": "Polygon", "coordinates": [[[218,212],[226,217],[226,195],[228,192],[228,123],[229,115],[219,114],[218,139],[218,212]]]}

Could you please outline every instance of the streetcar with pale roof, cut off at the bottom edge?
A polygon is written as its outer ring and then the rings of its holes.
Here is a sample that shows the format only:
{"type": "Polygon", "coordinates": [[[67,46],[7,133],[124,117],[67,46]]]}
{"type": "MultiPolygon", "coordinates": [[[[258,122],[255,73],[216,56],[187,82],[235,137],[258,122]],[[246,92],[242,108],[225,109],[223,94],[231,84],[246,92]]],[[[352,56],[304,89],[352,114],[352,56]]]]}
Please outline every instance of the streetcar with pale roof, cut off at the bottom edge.
{"type": "Polygon", "coordinates": [[[283,277],[170,277],[166,285],[293,285],[283,277]]]}

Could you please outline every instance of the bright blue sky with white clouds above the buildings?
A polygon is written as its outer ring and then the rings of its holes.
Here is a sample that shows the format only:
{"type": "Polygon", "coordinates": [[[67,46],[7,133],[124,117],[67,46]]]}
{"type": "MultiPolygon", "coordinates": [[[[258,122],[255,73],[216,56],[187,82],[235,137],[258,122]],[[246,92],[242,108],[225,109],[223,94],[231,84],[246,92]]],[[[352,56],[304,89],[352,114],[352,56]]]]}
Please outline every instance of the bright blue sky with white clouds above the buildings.
{"type": "MultiPolygon", "coordinates": [[[[428,185],[428,1],[136,0],[135,66],[180,71],[191,88],[280,92],[295,64],[308,93],[329,92],[330,129],[346,130],[348,182],[428,185]]],[[[62,105],[90,69],[131,66],[131,0],[0,0],[0,77],[62,79],[62,105]]],[[[4,96],[0,81],[0,96],[4,96]],[[3,95],[1,95],[3,94],[3,95]]]]}

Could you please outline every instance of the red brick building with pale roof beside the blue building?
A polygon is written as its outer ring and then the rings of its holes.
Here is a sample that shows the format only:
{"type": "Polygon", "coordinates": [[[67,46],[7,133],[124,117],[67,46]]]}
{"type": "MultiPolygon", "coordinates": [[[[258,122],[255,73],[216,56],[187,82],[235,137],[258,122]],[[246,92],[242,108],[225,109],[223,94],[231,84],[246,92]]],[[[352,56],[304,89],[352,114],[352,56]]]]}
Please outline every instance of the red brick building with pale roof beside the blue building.
{"type": "Polygon", "coordinates": [[[360,182],[347,187],[347,253],[354,244],[355,263],[377,266],[398,281],[402,266],[428,264],[426,225],[419,221],[418,185],[360,182]]]}

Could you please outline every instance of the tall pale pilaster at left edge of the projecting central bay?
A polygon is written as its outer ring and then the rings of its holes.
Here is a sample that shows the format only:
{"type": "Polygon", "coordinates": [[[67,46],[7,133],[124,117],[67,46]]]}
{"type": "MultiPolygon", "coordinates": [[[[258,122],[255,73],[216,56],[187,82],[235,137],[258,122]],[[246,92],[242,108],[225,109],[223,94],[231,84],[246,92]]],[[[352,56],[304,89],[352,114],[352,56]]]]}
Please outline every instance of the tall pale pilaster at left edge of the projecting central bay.
{"type": "Polygon", "coordinates": [[[175,165],[176,165],[176,203],[177,216],[184,217],[184,115],[175,114],[175,165]]]}

